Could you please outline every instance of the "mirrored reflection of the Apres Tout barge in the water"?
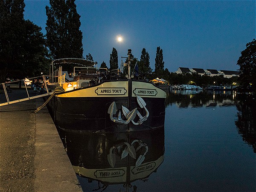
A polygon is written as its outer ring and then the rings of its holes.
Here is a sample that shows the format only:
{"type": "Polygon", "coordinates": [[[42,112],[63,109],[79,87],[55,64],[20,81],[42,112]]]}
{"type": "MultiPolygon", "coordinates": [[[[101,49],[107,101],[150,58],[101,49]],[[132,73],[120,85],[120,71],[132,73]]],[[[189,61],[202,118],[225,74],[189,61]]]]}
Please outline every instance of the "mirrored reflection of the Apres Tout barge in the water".
{"type": "Polygon", "coordinates": [[[136,191],[132,182],[156,172],[164,159],[164,126],[122,133],[58,131],[76,174],[89,183],[98,181],[95,190],[122,184],[126,191],[136,191]]]}

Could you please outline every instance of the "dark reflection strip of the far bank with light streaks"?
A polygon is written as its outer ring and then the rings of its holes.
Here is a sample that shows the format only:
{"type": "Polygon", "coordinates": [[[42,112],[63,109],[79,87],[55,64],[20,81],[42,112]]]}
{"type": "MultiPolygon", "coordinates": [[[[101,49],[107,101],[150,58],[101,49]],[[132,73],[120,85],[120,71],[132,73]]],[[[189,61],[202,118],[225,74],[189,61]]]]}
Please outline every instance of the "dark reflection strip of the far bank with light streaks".
{"type": "Polygon", "coordinates": [[[236,104],[236,92],[211,90],[172,90],[167,93],[166,106],[215,107],[236,104]]]}

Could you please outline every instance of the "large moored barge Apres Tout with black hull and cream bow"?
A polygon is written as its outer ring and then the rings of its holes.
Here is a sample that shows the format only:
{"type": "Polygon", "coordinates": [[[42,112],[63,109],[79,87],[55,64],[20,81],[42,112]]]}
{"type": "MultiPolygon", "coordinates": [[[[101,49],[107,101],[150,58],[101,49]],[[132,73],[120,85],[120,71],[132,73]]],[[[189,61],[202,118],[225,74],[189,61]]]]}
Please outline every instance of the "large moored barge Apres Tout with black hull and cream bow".
{"type": "MultiPolygon", "coordinates": [[[[130,74],[108,73],[93,67],[96,62],[77,58],[52,61],[49,85],[57,82],[47,107],[56,127],[79,131],[126,132],[154,129],[164,125],[166,92],[151,82],[133,79],[130,74]],[[73,81],[65,82],[62,67],[73,67],[73,81]],[[58,75],[59,74],[59,75],[58,75]]],[[[48,87],[49,87],[48,85],[48,87]]],[[[48,99],[46,96],[45,99],[48,99]]]]}

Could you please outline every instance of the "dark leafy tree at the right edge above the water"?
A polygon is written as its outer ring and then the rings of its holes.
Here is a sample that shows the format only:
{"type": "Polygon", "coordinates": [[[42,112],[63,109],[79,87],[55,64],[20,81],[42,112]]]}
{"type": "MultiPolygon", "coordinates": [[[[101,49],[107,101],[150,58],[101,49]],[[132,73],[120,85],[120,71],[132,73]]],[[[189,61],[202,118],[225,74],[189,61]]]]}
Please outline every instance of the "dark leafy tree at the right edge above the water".
{"type": "Polygon", "coordinates": [[[239,81],[241,87],[248,91],[256,91],[256,40],[246,44],[237,61],[240,66],[239,81]]]}

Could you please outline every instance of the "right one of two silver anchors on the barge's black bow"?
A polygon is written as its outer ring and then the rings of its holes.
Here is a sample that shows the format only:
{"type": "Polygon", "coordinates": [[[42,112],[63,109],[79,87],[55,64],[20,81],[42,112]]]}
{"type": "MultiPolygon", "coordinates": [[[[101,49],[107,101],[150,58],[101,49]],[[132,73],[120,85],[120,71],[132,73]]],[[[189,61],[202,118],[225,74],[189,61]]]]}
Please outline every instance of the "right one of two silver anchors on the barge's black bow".
{"type": "MultiPolygon", "coordinates": [[[[138,104],[140,105],[140,108],[144,108],[144,110],[146,111],[146,115],[145,115],[145,116],[142,116],[142,115],[140,114],[140,112],[137,110],[137,115],[139,116],[140,120],[139,120],[138,122],[134,122],[134,120],[131,120],[131,122],[132,122],[134,125],[140,125],[140,124],[142,124],[145,120],[148,119],[148,116],[149,116],[148,109],[145,107],[145,106],[146,106],[145,101],[144,101],[140,96],[137,96],[137,102],[138,102],[138,104]]],[[[122,106],[122,112],[124,113],[124,115],[125,115],[126,118],[128,117],[128,114],[130,113],[129,109],[126,108],[125,106],[122,106]]]]}

